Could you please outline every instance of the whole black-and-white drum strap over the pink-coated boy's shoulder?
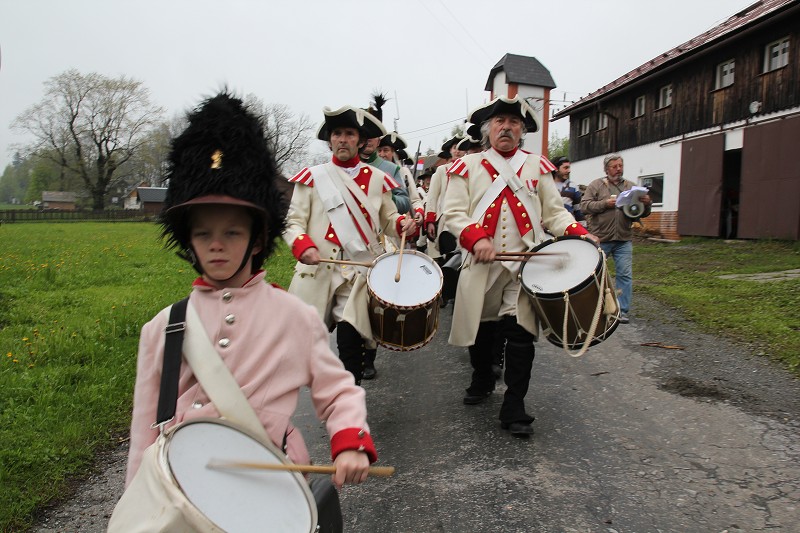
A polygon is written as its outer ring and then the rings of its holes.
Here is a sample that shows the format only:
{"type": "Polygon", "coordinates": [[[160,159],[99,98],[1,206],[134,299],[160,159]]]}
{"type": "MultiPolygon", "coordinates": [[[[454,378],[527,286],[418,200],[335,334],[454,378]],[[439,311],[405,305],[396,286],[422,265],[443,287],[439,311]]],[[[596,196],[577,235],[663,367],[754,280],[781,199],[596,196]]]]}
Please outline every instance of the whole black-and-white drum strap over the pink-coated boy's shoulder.
{"type": "Polygon", "coordinates": [[[169,324],[164,342],[164,365],[161,374],[161,392],[158,397],[156,424],[163,424],[175,416],[178,399],[181,351],[192,368],[197,381],[214,402],[219,414],[255,435],[269,441],[261,421],[247,401],[239,384],[208,339],[203,323],[194,307],[184,298],[170,309],[169,324]],[[177,309],[176,309],[177,306],[177,309]],[[189,335],[184,337],[186,328],[189,335]],[[183,348],[183,350],[181,350],[183,348]],[[166,394],[164,393],[166,391],[166,394]],[[163,418],[168,414],[167,418],[163,418]]]}

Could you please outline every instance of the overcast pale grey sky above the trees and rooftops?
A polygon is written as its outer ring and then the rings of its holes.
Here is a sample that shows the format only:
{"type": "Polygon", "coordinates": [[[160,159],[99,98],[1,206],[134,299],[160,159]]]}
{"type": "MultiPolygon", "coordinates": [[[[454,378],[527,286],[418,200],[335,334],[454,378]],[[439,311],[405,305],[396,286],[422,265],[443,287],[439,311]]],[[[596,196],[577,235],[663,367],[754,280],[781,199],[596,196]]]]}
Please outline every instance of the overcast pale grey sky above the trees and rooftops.
{"type": "Polygon", "coordinates": [[[318,124],[380,89],[387,129],[436,150],[506,53],[550,70],[557,110],[754,1],[0,0],[0,172],[11,121],[70,68],[143,81],[166,117],[227,85],[318,124]]]}

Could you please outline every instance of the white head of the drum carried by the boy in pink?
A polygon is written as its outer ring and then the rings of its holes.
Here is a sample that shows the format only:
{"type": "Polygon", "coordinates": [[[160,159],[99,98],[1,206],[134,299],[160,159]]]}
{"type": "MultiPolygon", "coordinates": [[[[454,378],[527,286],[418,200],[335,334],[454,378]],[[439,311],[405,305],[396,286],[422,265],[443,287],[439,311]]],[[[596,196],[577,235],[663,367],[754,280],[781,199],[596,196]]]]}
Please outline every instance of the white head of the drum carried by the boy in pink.
{"type": "Polygon", "coordinates": [[[170,436],[167,459],[186,497],[224,531],[314,531],[316,507],[297,474],[216,470],[209,461],[281,463],[261,443],[232,427],[187,423],[170,436]]]}

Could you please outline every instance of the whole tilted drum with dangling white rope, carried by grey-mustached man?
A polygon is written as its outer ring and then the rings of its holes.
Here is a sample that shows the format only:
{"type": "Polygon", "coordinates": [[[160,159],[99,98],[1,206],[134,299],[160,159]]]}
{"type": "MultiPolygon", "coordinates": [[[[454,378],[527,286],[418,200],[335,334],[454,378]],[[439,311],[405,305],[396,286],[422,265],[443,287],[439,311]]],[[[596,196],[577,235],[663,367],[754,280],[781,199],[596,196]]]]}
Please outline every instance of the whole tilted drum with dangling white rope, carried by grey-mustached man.
{"type": "Polygon", "coordinates": [[[563,236],[532,251],[552,254],[532,256],[519,272],[520,284],[533,301],[547,340],[570,350],[584,347],[598,305],[599,320],[589,345],[607,339],[619,324],[619,303],[600,247],[589,239],[563,236]],[[612,302],[605,299],[606,287],[612,302]]]}

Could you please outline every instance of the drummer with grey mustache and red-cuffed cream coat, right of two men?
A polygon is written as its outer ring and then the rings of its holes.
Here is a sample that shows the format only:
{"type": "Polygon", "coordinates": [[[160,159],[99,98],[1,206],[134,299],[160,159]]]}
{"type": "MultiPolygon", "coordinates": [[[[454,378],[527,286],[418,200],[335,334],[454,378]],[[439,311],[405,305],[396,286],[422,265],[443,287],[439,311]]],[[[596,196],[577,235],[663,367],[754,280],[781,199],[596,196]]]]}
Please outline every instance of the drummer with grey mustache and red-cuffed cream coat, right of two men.
{"type": "Polygon", "coordinates": [[[463,401],[475,405],[494,391],[492,345],[501,337],[507,389],[500,425],[514,436],[528,437],[533,417],[525,410],[525,395],[539,326],[530,298],[520,291],[521,263],[495,261],[495,255],[543,242],[543,225],[555,235],[587,232],[564,208],[552,163],[520,148],[524,134],[538,128],[535,112],[524,100],[501,96],[467,120],[480,124],[485,150],[454,161],[448,169],[447,228],[469,252],[458,280],[449,342],[469,349],[472,380],[463,401]]]}

